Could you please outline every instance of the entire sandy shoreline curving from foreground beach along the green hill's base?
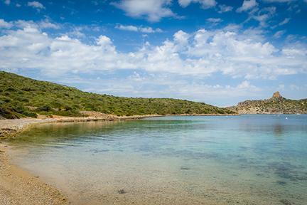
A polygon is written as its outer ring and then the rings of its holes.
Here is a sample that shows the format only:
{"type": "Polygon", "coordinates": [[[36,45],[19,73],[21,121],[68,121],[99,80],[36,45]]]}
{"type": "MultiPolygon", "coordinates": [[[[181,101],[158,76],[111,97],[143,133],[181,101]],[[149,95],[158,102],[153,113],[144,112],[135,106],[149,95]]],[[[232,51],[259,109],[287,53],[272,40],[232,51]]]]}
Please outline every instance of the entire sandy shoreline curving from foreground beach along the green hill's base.
{"type": "MultiPolygon", "coordinates": [[[[91,113],[92,114],[92,113],[91,113]]],[[[94,113],[95,114],[95,113],[94,113]]],[[[97,113],[96,113],[97,114],[97,113]]],[[[224,115],[224,114],[222,114],[224,115]]],[[[16,137],[33,125],[54,122],[93,122],[115,120],[139,120],[146,117],[163,116],[195,116],[195,115],[134,115],[122,116],[104,115],[98,117],[61,117],[35,119],[21,118],[14,120],[0,120],[0,204],[69,204],[68,199],[58,189],[45,184],[41,179],[33,176],[10,162],[9,146],[1,140],[16,137]]],[[[221,116],[199,115],[199,116],[221,116]]]]}

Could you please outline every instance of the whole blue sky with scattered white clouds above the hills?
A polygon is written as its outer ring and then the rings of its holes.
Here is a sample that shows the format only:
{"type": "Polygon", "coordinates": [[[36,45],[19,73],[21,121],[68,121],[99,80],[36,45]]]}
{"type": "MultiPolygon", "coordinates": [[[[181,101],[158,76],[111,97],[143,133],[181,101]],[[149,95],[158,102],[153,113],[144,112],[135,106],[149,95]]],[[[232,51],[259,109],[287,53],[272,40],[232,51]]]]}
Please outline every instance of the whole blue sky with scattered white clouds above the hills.
{"type": "Polygon", "coordinates": [[[307,0],[0,0],[0,70],[211,105],[307,98],[307,0]]]}

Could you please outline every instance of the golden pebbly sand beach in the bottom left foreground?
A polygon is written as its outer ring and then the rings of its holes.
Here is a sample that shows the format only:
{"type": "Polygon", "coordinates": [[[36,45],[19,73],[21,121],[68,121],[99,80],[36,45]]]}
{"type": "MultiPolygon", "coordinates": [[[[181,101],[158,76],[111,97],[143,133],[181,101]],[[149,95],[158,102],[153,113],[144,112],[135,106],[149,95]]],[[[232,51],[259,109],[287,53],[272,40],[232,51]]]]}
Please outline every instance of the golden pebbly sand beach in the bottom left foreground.
{"type": "Polygon", "coordinates": [[[0,204],[68,204],[63,194],[9,162],[0,144],[0,204]]]}

